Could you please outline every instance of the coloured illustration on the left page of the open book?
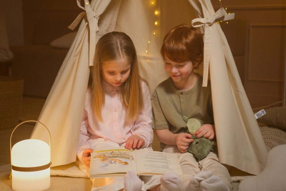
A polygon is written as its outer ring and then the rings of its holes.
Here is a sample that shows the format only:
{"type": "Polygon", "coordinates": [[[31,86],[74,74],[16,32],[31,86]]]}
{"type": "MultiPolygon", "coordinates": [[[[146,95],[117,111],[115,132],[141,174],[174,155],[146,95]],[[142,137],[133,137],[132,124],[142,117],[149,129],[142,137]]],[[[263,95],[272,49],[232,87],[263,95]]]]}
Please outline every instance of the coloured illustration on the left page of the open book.
{"type": "Polygon", "coordinates": [[[109,165],[112,165],[110,166],[111,168],[114,168],[114,165],[131,166],[131,160],[134,160],[134,157],[129,154],[128,149],[117,149],[98,152],[95,151],[93,160],[97,163],[99,168],[108,169],[109,165]]]}

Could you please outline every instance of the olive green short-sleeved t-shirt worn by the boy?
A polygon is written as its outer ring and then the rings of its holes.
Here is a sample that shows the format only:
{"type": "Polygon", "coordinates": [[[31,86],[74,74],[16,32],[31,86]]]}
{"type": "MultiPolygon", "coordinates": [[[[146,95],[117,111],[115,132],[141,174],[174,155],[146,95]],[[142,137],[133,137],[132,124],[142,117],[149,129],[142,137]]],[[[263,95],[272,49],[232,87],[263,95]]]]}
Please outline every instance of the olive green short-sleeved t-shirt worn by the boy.
{"type": "MultiPolygon", "coordinates": [[[[197,83],[188,91],[178,91],[169,77],[153,92],[153,128],[173,133],[185,132],[188,128],[183,117],[196,118],[203,124],[214,124],[211,84],[202,87],[203,78],[198,75],[197,83]]],[[[161,143],[161,149],[165,144],[161,143]]]]}

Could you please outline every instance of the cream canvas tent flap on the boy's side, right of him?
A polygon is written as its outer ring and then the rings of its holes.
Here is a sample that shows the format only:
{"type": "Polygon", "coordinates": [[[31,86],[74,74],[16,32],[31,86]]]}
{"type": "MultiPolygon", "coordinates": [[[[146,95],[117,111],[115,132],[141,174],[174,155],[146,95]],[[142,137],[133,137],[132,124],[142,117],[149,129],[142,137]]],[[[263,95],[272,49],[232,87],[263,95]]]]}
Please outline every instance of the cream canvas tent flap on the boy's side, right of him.
{"type": "Polygon", "coordinates": [[[200,17],[193,19],[193,26],[205,27],[204,78],[209,64],[219,160],[257,175],[265,167],[267,149],[227,40],[216,22],[227,19],[225,12],[215,12],[210,0],[189,2],[200,17]]]}

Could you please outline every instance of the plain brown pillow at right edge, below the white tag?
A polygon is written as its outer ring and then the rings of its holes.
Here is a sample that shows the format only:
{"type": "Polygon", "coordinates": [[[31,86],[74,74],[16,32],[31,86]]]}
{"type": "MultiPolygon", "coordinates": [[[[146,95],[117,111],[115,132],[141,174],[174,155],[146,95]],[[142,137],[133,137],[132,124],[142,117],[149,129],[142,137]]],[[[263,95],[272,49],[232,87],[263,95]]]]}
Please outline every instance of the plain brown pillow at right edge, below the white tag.
{"type": "Polygon", "coordinates": [[[286,106],[265,109],[265,112],[257,122],[286,129],[286,106]]]}

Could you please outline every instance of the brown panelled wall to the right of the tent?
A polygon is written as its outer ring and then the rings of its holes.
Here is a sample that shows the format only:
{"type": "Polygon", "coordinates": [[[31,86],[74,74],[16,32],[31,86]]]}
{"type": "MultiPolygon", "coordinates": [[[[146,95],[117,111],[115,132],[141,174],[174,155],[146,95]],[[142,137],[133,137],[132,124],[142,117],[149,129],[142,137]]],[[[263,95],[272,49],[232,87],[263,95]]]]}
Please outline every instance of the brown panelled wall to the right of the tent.
{"type": "MultiPolygon", "coordinates": [[[[220,2],[212,1],[214,9],[220,2]]],[[[253,107],[264,106],[283,100],[284,67],[286,52],[286,1],[285,0],[221,0],[227,12],[235,13],[235,19],[245,22],[245,27],[236,28],[245,35],[245,41],[233,42],[228,24],[222,29],[235,47],[244,46],[241,54],[244,65],[238,66],[241,80],[253,107]]]]}

